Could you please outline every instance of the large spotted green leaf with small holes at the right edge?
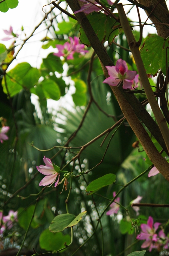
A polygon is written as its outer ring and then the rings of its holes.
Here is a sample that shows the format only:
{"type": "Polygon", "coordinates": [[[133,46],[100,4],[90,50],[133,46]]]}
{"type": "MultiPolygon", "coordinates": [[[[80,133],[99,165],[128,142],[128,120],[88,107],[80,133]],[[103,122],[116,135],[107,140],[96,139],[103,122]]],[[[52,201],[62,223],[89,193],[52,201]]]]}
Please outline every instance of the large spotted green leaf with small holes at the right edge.
{"type": "MultiPolygon", "coordinates": [[[[158,69],[166,75],[166,47],[169,40],[153,35],[145,40],[140,49],[143,64],[147,74],[156,75],[158,69]]],[[[169,63],[169,51],[167,49],[167,63],[169,63]]]]}

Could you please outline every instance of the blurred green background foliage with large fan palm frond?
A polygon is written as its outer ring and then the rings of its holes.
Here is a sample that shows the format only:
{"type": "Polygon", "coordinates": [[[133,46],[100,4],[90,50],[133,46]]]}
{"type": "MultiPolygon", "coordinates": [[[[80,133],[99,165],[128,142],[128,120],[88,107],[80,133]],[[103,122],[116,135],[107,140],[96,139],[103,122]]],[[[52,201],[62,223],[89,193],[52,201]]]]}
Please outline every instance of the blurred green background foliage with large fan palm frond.
{"type": "MultiPolygon", "coordinates": [[[[56,20],[52,23],[52,28],[55,38],[53,39],[49,33],[49,37],[43,39],[43,49],[48,49],[50,46],[56,48],[56,44],[65,43],[68,36],[74,37],[79,35],[79,25],[71,18],[69,18],[69,22],[63,20],[58,24],[59,31],[56,31],[56,20]]],[[[123,31],[119,32],[119,35],[117,33],[118,36],[115,37],[115,42],[127,48],[124,33],[123,31]]],[[[134,35],[138,37],[137,31],[134,31],[134,35]]],[[[71,134],[78,128],[83,117],[90,97],[87,86],[87,75],[92,49],[88,49],[89,53],[85,56],[74,56],[74,60],[66,61],[67,75],[71,76],[72,81],[74,81],[74,93],[72,94],[74,104],[71,106],[71,110],[68,109],[69,105],[66,101],[65,106],[58,108],[57,111],[48,109],[47,107],[48,99],[59,100],[60,97],[63,98],[72,86],[62,76],[65,60],[60,60],[53,53],[50,53],[47,58],[42,59],[40,69],[32,68],[29,63],[20,63],[14,69],[9,72],[7,71],[6,82],[9,93],[11,94],[11,102],[6,95],[5,78],[3,72],[1,72],[0,116],[7,119],[7,125],[10,126],[10,131],[9,140],[0,144],[0,206],[4,208],[5,215],[11,209],[14,211],[18,210],[18,222],[12,230],[5,231],[4,237],[6,238],[3,241],[3,248],[1,247],[3,250],[11,247],[18,248],[21,245],[37,198],[36,195],[29,195],[38,194],[41,191],[39,182],[44,177],[37,172],[36,165],[44,164],[42,160],[44,155],[51,158],[59,151],[59,149],[55,148],[44,153],[33,148],[30,143],[32,142],[33,145],[41,150],[59,145],[63,146],[71,134]],[[31,94],[38,96],[38,101],[35,105],[31,102],[31,94]],[[16,124],[13,117],[15,118],[16,124]],[[15,147],[16,134],[18,136],[18,142],[15,147]],[[15,191],[29,181],[31,181],[30,184],[18,193],[20,197],[15,196],[10,199],[15,191]],[[22,199],[21,197],[28,198],[22,199]],[[6,200],[8,200],[8,203],[4,206],[6,200]],[[13,231],[14,233],[12,233],[13,231]]],[[[113,43],[111,45],[107,44],[106,49],[113,62],[116,62],[120,56],[128,63],[128,66],[132,70],[136,70],[136,65],[133,63],[133,59],[128,51],[122,50],[113,43]]],[[[100,62],[95,58],[91,74],[92,94],[101,109],[107,114],[112,115],[113,118],[107,117],[92,103],[82,127],[69,143],[72,147],[86,144],[123,117],[112,91],[109,86],[103,84],[103,80],[104,76],[100,62]]],[[[154,83],[153,80],[151,80],[151,83],[154,83]]],[[[144,94],[138,94],[137,97],[140,101],[145,99],[144,94]]],[[[80,163],[78,160],[75,161],[74,174],[80,172],[80,165],[84,171],[88,171],[101,161],[112,133],[109,134],[102,147],[100,145],[104,136],[83,151],[80,157],[80,163]]],[[[124,122],[113,137],[103,163],[85,175],[86,181],[83,179],[83,176],[73,179],[68,204],[69,212],[77,216],[81,211],[86,210],[87,214],[81,222],[73,227],[73,245],[62,251],[62,255],[71,255],[92,234],[97,223],[98,216],[94,202],[92,197],[86,195],[85,192],[86,182],[91,182],[107,173],[114,173],[116,174],[116,183],[125,185],[148,168],[148,165],[143,160],[145,152],[142,151],[142,147],[139,145],[139,151],[138,148],[133,149],[132,147],[133,142],[136,140],[136,136],[128,123],[124,122]]],[[[63,167],[75,153],[77,153],[77,149],[70,151],[62,150],[54,158],[53,162],[63,167]]],[[[68,165],[66,170],[71,171],[71,168],[72,166],[68,165]]],[[[145,174],[120,194],[121,204],[128,208],[131,219],[133,220],[136,218],[136,213],[130,207],[131,200],[140,195],[143,197],[142,202],[144,203],[166,204],[169,196],[167,187],[168,183],[161,174],[151,178],[148,178],[147,174],[145,174]]],[[[121,188],[119,185],[112,184],[102,188],[99,194],[112,199],[113,191],[118,191],[119,188],[121,188]]],[[[60,233],[51,233],[48,230],[54,216],[66,213],[65,200],[67,191],[63,190],[60,194],[61,190],[62,185],[57,188],[49,187],[41,196],[33,222],[27,234],[26,242],[24,243],[25,248],[30,250],[36,248],[36,251],[39,253],[44,253],[59,250],[65,241],[69,244],[70,228],[60,233]]],[[[99,213],[102,213],[109,203],[103,197],[95,194],[94,201],[99,213]]],[[[155,221],[166,223],[168,210],[164,208],[163,214],[161,215],[160,208],[155,208],[155,210],[148,207],[141,208],[140,216],[142,217],[142,222],[140,223],[146,223],[148,216],[152,216],[155,221]]],[[[118,214],[114,214],[111,217],[104,214],[102,225],[105,255],[116,256],[132,243],[134,243],[133,247],[125,251],[124,255],[127,255],[131,251],[140,250],[142,243],[135,243],[135,230],[130,230],[131,221],[128,219],[124,209],[120,208],[118,214]]],[[[147,252],[146,255],[148,254],[153,255],[157,254],[157,252],[147,252]]],[[[97,229],[95,235],[76,255],[101,255],[100,228],[97,229]]]]}

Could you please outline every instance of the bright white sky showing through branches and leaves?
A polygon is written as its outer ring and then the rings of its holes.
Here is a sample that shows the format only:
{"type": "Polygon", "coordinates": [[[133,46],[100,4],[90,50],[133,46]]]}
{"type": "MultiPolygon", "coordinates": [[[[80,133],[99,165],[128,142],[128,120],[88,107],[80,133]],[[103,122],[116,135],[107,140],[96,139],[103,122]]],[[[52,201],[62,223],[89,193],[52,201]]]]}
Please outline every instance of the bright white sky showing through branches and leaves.
{"type": "MultiPolygon", "coordinates": [[[[44,13],[42,12],[42,7],[48,4],[48,2],[49,2],[48,0],[29,0],[29,1],[19,0],[19,4],[17,8],[9,9],[9,11],[6,13],[0,12],[0,39],[3,39],[4,37],[7,36],[3,32],[3,29],[8,30],[11,25],[13,27],[14,33],[18,33],[18,34],[21,34],[21,26],[23,26],[24,32],[26,33],[26,37],[28,37],[32,33],[35,26],[37,26],[39,22],[43,19],[44,13]]],[[[127,0],[121,0],[120,2],[122,2],[123,4],[129,3],[127,0]]],[[[51,6],[53,5],[46,6],[44,8],[44,11],[49,11],[51,6]]],[[[64,8],[65,3],[62,2],[60,6],[64,8]]],[[[125,6],[125,10],[127,11],[130,8],[131,6],[125,6]]],[[[145,12],[142,9],[139,9],[139,10],[140,10],[141,19],[145,21],[147,18],[145,12]]],[[[58,14],[60,11],[58,11],[55,8],[54,12],[55,14],[56,13],[58,14]]],[[[128,17],[131,20],[138,21],[137,12],[135,8],[131,10],[128,17]]],[[[148,22],[151,23],[150,20],[148,22]]],[[[48,24],[50,24],[50,22],[48,22],[48,24]]],[[[45,24],[41,25],[39,29],[37,29],[35,33],[36,35],[31,37],[31,39],[29,39],[29,41],[24,45],[23,49],[18,54],[17,59],[14,60],[14,62],[12,62],[9,69],[14,68],[14,66],[20,62],[29,62],[30,65],[39,68],[42,62],[42,58],[47,57],[47,55],[50,52],[54,51],[54,49],[51,46],[49,49],[46,49],[46,50],[41,48],[42,42],[40,40],[46,36],[46,32],[44,31],[44,29],[45,29],[45,24]]],[[[139,27],[138,27],[138,30],[139,30],[139,27]]],[[[151,27],[144,26],[143,37],[145,37],[148,33],[155,33],[155,32],[156,30],[155,28],[152,28],[152,26],[151,27]]],[[[20,38],[25,39],[25,35],[23,32],[20,38]]],[[[18,41],[18,43],[20,42],[21,40],[18,41]]],[[[12,40],[10,41],[0,40],[0,43],[5,44],[8,48],[11,45],[12,40]]],[[[73,86],[72,86],[72,90],[74,90],[73,86]]],[[[73,104],[70,95],[66,96],[66,101],[68,101],[71,105],[73,104]]],[[[65,105],[65,100],[60,99],[58,102],[54,102],[53,100],[48,100],[49,107],[53,106],[54,108],[57,108],[58,104],[59,106],[65,105]]]]}

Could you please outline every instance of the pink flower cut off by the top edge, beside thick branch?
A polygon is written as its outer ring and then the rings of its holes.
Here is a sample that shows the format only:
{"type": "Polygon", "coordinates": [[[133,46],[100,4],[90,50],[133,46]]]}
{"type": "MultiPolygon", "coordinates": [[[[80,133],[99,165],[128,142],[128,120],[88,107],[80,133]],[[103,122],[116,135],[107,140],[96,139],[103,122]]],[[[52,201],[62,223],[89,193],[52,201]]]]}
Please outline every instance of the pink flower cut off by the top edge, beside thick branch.
{"type": "MultiPolygon", "coordinates": [[[[98,3],[97,3],[95,0],[91,0],[91,1],[90,1],[90,2],[94,3],[95,5],[93,5],[92,3],[89,3],[88,0],[80,0],[80,1],[81,1],[81,2],[84,2],[84,3],[86,3],[86,4],[83,5],[80,10],[75,11],[74,14],[76,14],[76,13],[78,13],[78,12],[84,12],[84,13],[86,13],[86,14],[89,14],[89,13],[91,13],[91,12],[94,12],[94,11],[95,11],[95,12],[98,12],[98,11],[101,10],[99,7],[97,7],[97,6],[100,6],[100,5],[98,5],[98,3]],[[96,5],[97,5],[97,6],[96,6],[96,5]]],[[[107,3],[108,3],[109,5],[112,5],[112,4],[113,4],[110,0],[107,0],[107,3]]]]}

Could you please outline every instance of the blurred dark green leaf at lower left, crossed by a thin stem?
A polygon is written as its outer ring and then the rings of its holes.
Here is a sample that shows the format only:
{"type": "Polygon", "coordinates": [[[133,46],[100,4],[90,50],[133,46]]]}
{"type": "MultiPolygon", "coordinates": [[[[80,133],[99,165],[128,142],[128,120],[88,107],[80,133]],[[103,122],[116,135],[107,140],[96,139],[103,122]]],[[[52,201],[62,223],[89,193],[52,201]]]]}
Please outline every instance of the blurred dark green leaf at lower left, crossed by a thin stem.
{"type": "MultiPolygon", "coordinates": [[[[18,209],[18,223],[22,228],[24,228],[24,230],[27,230],[30,219],[32,218],[34,208],[35,208],[35,205],[30,205],[26,210],[24,210],[23,207],[20,207],[18,209]]],[[[31,223],[31,227],[37,228],[39,227],[39,224],[36,223],[33,219],[31,223]]]]}

